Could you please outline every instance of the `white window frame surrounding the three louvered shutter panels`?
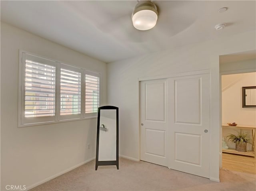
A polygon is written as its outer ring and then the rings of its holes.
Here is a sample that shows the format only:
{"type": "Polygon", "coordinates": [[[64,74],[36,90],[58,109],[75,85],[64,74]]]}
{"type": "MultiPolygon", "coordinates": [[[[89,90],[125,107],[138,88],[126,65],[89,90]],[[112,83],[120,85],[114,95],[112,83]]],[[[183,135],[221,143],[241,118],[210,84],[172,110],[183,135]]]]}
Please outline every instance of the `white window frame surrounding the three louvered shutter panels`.
{"type": "Polygon", "coordinates": [[[60,61],[54,61],[34,53],[20,50],[19,53],[19,82],[18,82],[18,127],[36,126],[41,124],[52,124],[74,120],[85,120],[90,118],[97,118],[98,112],[85,113],[85,75],[89,74],[100,79],[100,98],[101,102],[101,74],[94,71],[88,71],[83,68],[74,67],[64,64],[60,61]],[[26,59],[37,61],[56,67],[56,83],[55,83],[55,116],[40,116],[25,118],[25,67],[26,59]],[[68,69],[81,73],[81,113],[71,115],[60,115],[60,69],[68,69]]]}

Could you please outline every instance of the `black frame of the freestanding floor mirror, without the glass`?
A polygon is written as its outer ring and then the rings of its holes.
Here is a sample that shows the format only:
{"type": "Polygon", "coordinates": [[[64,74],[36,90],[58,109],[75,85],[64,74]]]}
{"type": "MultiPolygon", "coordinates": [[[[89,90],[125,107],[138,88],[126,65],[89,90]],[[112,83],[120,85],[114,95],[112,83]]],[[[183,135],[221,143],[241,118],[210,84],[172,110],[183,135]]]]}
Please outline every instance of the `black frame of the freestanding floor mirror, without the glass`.
{"type": "Polygon", "coordinates": [[[116,168],[119,169],[119,154],[118,154],[118,107],[115,106],[101,106],[98,108],[98,124],[97,124],[97,144],[96,144],[96,164],[95,170],[98,169],[98,166],[105,165],[116,165],[116,168]],[[102,109],[113,109],[116,110],[116,160],[115,161],[99,161],[99,136],[100,136],[100,110],[102,109]]]}

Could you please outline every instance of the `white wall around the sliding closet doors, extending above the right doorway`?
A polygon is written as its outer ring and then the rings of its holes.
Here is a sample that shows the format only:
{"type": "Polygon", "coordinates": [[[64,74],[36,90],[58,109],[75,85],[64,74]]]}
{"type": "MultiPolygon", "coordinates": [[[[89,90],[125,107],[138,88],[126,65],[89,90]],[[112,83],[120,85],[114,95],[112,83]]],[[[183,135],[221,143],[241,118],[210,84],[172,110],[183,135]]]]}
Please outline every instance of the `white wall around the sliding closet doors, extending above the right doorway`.
{"type": "Polygon", "coordinates": [[[118,106],[120,112],[120,155],[140,159],[138,78],[211,69],[210,179],[218,181],[221,126],[219,55],[253,49],[255,31],[108,63],[108,104],[118,106]]]}

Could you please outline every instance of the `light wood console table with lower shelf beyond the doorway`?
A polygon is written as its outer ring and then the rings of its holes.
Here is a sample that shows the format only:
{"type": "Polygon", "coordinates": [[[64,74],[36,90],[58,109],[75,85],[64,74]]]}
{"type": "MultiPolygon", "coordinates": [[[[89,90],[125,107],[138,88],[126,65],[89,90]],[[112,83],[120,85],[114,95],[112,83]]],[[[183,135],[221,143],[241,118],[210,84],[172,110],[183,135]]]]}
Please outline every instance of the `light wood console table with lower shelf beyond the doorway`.
{"type": "Polygon", "coordinates": [[[222,149],[223,153],[232,153],[232,154],[239,154],[239,155],[245,155],[245,156],[253,156],[254,158],[256,157],[256,152],[255,152],[255,130],[256,126],[246,126],[246,125],[238,125],[238,126],[229,126],[228,124],[223,124],[222,128],[232,128],[232,129],[247,129],[251,130],[252,133],[252,150],[247,151],[247,152],[238,152],[235,149],[222,149]]]}

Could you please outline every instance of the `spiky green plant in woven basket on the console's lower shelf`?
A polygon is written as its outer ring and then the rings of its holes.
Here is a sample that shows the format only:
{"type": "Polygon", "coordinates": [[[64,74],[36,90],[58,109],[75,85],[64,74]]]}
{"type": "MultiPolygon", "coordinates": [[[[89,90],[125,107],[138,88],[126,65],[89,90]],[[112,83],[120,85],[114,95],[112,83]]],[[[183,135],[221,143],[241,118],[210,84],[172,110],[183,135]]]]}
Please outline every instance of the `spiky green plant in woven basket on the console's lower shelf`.
{"type": "Polygon", "coordinates": [[[252,138],[248,132],[240,130],[240,132],[236,131],[237,134],[228,134],[226,136],[228,140],[236,144],[236,151],[238,152],[246,152],[246,144],[252,144],[252,138]]]}

